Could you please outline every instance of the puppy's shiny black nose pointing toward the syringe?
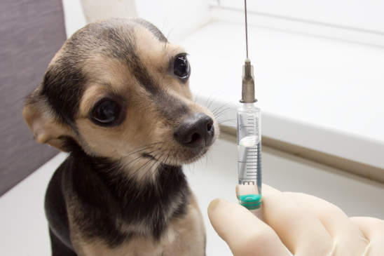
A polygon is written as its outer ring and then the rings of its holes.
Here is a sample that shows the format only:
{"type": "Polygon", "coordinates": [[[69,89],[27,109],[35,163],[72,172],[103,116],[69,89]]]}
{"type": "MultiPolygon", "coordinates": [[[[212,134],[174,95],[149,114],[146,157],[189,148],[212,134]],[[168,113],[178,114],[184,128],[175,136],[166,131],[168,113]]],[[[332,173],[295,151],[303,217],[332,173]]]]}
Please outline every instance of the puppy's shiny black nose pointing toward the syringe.
{"type": "Polygon", "coordinates": [[[209,146],[213,137],[213,120],[203,113],[184,119],[174,133],[174,139],[186,147],[209,146]]]}

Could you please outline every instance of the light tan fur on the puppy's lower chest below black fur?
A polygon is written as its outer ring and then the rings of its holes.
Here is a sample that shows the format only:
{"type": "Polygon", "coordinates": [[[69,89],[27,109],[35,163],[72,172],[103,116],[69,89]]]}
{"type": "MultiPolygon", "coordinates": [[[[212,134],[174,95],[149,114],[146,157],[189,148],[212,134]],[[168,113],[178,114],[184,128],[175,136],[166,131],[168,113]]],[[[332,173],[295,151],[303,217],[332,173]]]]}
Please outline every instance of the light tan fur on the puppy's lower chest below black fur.
{"type": "MultiPolygon", "coordinates": [[[[139,228],[137,231],[139,231],[139,228]]],[[[72,243],[79,256],[203,256],[205,255],[205,228],[193,196],[186,215],[170,222],[160,240],[136,236],[116,245],[108,246],[100,238],[83,240],[77,232],[72,243]],[[77,236],[76,236],[77,234],[77,236]]]]}

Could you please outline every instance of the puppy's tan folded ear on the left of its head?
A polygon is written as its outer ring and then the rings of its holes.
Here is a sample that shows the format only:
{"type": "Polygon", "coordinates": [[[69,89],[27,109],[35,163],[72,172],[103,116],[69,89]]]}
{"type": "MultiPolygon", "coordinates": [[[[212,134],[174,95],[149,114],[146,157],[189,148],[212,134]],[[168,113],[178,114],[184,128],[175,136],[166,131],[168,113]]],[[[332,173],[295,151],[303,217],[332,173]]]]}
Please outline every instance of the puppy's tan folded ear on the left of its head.
{"type": "Polygon", "coordinates": [[[22,115],[37,142],[67,151],[64,142],[68,136],[73,137],[72,130],[67,124],[57,120],[53,110],[48,106],[46,97],[40,95],[39,90],[40,87],[27,96],[22,115]]]}

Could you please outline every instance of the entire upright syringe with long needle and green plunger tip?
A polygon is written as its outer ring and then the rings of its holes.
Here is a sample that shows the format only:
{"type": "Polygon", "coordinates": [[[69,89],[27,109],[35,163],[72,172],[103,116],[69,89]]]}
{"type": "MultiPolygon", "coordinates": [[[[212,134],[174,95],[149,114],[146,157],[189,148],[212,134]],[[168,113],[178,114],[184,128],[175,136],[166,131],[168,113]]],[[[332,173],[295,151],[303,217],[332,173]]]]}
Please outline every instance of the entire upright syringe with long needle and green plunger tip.
{"type": "Polygon", "coordinates": [[[245,40],[247,58],[242,66],[243,106],[238,109],[238,199],[261,217],[261,126],[260,109],[254,106],[254,70],[248,58],[247,0],[245,5],[245,40]]]}

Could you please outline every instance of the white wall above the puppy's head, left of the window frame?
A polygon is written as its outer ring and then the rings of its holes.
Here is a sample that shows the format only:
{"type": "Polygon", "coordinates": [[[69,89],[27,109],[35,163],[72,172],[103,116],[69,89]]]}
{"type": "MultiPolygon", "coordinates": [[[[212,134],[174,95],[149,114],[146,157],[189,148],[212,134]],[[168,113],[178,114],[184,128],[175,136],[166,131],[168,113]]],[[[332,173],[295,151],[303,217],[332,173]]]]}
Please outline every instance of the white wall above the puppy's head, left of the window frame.
{"type": "Polygon", "coordinates": [[[156,25],[170,41],[179,41],[210,20],[207,0],[113,0],[108,1],[107,5],[103,4],[106,2],[104,0],[99,4],[97,3],[99,1],[83,0],[82,2],[63,0],[68,37],[87,22],[109,17],[138,16],[156,25]]]}

